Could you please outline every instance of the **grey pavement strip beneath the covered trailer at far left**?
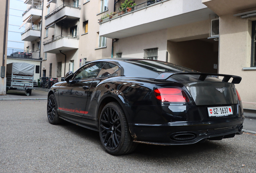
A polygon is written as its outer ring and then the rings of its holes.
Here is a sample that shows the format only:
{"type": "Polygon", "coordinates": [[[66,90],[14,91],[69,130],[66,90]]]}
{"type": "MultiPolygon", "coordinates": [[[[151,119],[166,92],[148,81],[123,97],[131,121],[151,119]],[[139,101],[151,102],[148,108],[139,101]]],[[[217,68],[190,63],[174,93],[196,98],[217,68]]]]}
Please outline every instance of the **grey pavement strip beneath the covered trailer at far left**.
{"type": "Polygon", "coordinates": [[[32,90],[30,96],[25,95],[25,91],[9,90],[7,95],[0,95],[1,100],[47,100],[47,91],[32,90]]]}

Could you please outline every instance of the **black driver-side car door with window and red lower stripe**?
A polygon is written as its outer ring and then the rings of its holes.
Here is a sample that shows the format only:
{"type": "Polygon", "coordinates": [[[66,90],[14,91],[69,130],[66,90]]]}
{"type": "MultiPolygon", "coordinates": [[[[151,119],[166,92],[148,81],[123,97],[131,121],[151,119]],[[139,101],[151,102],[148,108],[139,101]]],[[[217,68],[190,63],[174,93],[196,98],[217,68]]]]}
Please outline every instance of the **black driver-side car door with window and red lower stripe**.
{"type": "Polygon", "coordinates": [[[80,119],[84,114],[93,79],[97,76],[105,62],[87,64],[74,74],[69,82],[64,82],[59,89],[60,115],[67,118],[80,119]]]}

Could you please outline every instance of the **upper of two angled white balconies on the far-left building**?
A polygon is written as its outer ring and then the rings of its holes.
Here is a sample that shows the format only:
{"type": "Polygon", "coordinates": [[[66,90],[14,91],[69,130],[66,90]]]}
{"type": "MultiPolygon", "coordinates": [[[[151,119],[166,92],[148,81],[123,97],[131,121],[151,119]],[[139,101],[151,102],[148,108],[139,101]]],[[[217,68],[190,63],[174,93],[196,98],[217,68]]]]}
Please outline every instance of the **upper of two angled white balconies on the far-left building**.
{"type": "Polygon", "coordinates": [[[32,17],[32,20],[28,20],[27,22],[32,23],[35,22],[37,19],[41,18],[42,16],[42,7],[41,6],[36,6],[36,5],[31,5],[23,14],[22,14],[22,20],[23,22],[29,18],[30,16],[32,17]]]}

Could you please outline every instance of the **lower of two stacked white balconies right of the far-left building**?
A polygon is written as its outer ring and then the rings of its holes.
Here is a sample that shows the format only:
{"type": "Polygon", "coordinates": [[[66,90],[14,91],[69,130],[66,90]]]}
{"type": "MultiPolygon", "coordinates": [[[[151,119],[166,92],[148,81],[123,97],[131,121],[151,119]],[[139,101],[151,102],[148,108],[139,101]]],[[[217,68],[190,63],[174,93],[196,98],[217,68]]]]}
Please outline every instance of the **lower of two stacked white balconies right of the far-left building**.
{"type": "Polygon", "coordinates": [[[58,54],[60,50],[66,52],[78,49],[78,43],[79,36],[62,34],[43,42],[43,52],[58,54]]]}

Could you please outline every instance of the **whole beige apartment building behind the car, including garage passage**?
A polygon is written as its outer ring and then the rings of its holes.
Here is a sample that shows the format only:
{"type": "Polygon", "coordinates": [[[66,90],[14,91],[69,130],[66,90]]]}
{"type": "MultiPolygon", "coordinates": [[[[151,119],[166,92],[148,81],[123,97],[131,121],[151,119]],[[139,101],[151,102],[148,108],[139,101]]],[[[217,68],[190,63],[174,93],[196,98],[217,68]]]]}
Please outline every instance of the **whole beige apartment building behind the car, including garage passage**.
{"type": "Polygon", "coordinates": [[[121,3],[43,0],[42,75],[60,80],[100,58],[157,59],[242,76],[244,108],[256,109],[254,0],[135,0],[120,11],[121,3]]]}

